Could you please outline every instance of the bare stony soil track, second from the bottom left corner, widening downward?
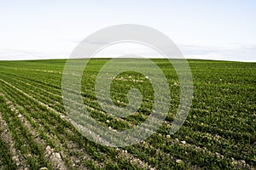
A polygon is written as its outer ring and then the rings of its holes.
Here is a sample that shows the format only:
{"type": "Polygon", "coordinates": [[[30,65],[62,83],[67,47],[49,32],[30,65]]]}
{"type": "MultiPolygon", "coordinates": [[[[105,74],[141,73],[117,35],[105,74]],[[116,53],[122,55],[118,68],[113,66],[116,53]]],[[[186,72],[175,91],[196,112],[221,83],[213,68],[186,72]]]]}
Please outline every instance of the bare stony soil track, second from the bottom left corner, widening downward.
{"type": "Polygon", "coordinates": [[[7,97],[4,94],[0,93],[0,95],[3,97],[6,104],[9,105],[9,108],[11,109],[11,111],[15,112],[15,115],[18,117],[18,119],[20,119],[20,121],[24,123],[24,126],[32,134],[35,141],[38,144],[44,145],[44,149],[45,149],[44,157],[48,161],[52,162],[54,169],[67,170],[67,167],[64,161],[62,161],[60,154],[55,152],[55,150],[50,149],[49,146],[46,145],[43,139],[39,139],[40,134],[38,133],[38,131],[34,129],[34,127],[32,127],[30,122],[28,122],[23,115],[20,114],[20,111],[18,111],[15,108],[15,105],[9,99],[7,99],[7,97]]]}

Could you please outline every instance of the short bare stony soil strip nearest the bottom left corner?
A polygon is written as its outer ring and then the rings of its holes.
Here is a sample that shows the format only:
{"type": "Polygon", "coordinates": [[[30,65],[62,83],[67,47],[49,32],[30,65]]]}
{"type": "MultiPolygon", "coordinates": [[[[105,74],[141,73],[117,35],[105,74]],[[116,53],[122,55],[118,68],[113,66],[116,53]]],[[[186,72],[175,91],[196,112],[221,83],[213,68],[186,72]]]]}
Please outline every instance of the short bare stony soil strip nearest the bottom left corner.
{"type": "Polygon", "coordinates": [[[0,112],[0,132],[1,139],[7,144],[9,148],[9,152],[12,156],[12,160],[15,162],[15,165],[18,167],[17,169],[25,169],[27,168],[26,160],[21,154],[20,150],[15,148],[15,140],[12,139],[11,134],[9,133],[9,127],[7,122],[4,121],[2,113],[0,112]]]}

